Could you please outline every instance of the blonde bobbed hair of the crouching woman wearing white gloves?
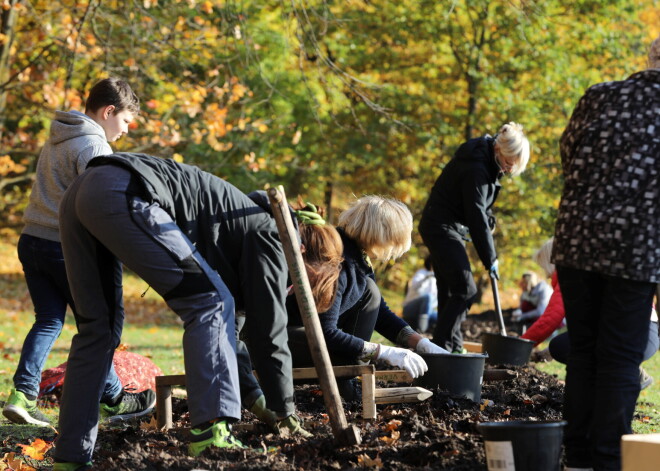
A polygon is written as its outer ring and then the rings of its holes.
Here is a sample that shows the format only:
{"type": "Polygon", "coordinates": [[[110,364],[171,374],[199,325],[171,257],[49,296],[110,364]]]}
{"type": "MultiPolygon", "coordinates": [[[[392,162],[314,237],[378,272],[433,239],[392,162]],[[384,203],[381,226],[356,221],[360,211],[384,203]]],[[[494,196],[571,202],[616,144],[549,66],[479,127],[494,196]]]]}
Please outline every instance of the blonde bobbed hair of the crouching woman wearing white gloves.
{"type": "Polygon", "coordinates": [[[369,195],[341,213],[338,227],[365,252],[390,260],[410,249],[413,218],[401,201],[369,195]]]}

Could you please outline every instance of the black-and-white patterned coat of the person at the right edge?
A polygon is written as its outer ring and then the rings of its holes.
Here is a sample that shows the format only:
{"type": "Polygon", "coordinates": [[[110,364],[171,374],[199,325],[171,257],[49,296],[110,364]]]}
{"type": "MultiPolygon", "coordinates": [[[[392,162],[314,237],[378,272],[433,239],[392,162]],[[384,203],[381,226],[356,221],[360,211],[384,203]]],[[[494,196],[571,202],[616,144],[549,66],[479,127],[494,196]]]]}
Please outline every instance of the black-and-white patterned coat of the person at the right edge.
{"type": "Polygon", "coordinates": [[[561,159],[554,263],[660,282],[660,69],[589,88],[561,159]]]}

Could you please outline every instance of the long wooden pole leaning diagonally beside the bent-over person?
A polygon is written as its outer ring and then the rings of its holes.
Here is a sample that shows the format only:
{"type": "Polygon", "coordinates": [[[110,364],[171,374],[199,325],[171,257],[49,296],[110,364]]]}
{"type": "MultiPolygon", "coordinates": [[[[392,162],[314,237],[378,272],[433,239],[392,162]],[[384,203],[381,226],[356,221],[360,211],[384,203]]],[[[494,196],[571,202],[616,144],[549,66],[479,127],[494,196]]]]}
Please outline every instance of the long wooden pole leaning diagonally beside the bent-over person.
{"type": "Polygon", "coordinates": [[[307,278],[305,263],[296,236],[296,229],[291,219],[289,205],[284,195],[282,187],[271,188],[268,191],[270,205],[273,209],[273,215],[277,222],[277,229],[284,248],[284,255],[289,266],[289,274],[293,281],[293,289],[296,293],[300,314],[305,326],[305,334],[309,350],[312,353],[312,360],[319,377],[321,390],[323,391],[323,400],[328,410],[330,426],[332,433],[337,441],[344,445],[359,445],[362,442],[360,431],[355,426],[348,425],[344,406],[339,397],[337,380],[335,379],[330,362],[330,355],[325,344],[325,337],[321,330],[316,304],[312,296],[312,290],[307,278]]]}

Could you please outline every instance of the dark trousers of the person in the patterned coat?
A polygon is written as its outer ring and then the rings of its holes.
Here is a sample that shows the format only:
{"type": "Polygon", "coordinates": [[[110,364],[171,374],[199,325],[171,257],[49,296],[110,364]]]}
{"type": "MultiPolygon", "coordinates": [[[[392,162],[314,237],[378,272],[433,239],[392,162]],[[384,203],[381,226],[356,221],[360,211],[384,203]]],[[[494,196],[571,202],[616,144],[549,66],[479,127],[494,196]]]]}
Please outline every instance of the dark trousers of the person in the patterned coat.
{"type": "Polygon", "coordinates": [[[566,466],[621,469],[632,433],[654,283],[557,266],[566,308],[566,466]]]}

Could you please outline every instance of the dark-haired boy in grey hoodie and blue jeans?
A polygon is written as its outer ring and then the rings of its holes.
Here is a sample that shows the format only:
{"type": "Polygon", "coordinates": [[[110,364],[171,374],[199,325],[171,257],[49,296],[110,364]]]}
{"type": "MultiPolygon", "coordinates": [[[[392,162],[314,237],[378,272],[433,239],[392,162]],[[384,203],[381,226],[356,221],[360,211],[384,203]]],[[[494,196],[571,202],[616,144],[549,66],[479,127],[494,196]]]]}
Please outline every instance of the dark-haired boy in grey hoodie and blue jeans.
{"type": "MultiPolygon", "coordinates": [[[[62,195],[91,159],[112,153],[108,142],[128,133],[139,111],[139,99],[128,83],[107,78],[92,87],[85,113],[57,111],[50,137],[39,160],[32,193],[25,209],[25,227],[18,241],[18,256],[35,310],[35,322],[21,351],[14,374],[14,389],[3,414],[15,423],[48,425],[39,411],[41,371],[64,323],[67,305],[76,315],[60,243],[58,206],[62,195]]],[[[114,273],[121,278],[121,270],[114,273]]],[[[121,302],[121,293],[110,293],[121,302]]],[[[123,314],[123,306],[120,306],[123,314]]],[[[121,333],[119,333],[121,334],[121,333]]],[[[140,415],[153,407],[155,395],[148,390],[125,392],[110,370],[101,397],[101,413],[117,418],[140,415]]]]}

